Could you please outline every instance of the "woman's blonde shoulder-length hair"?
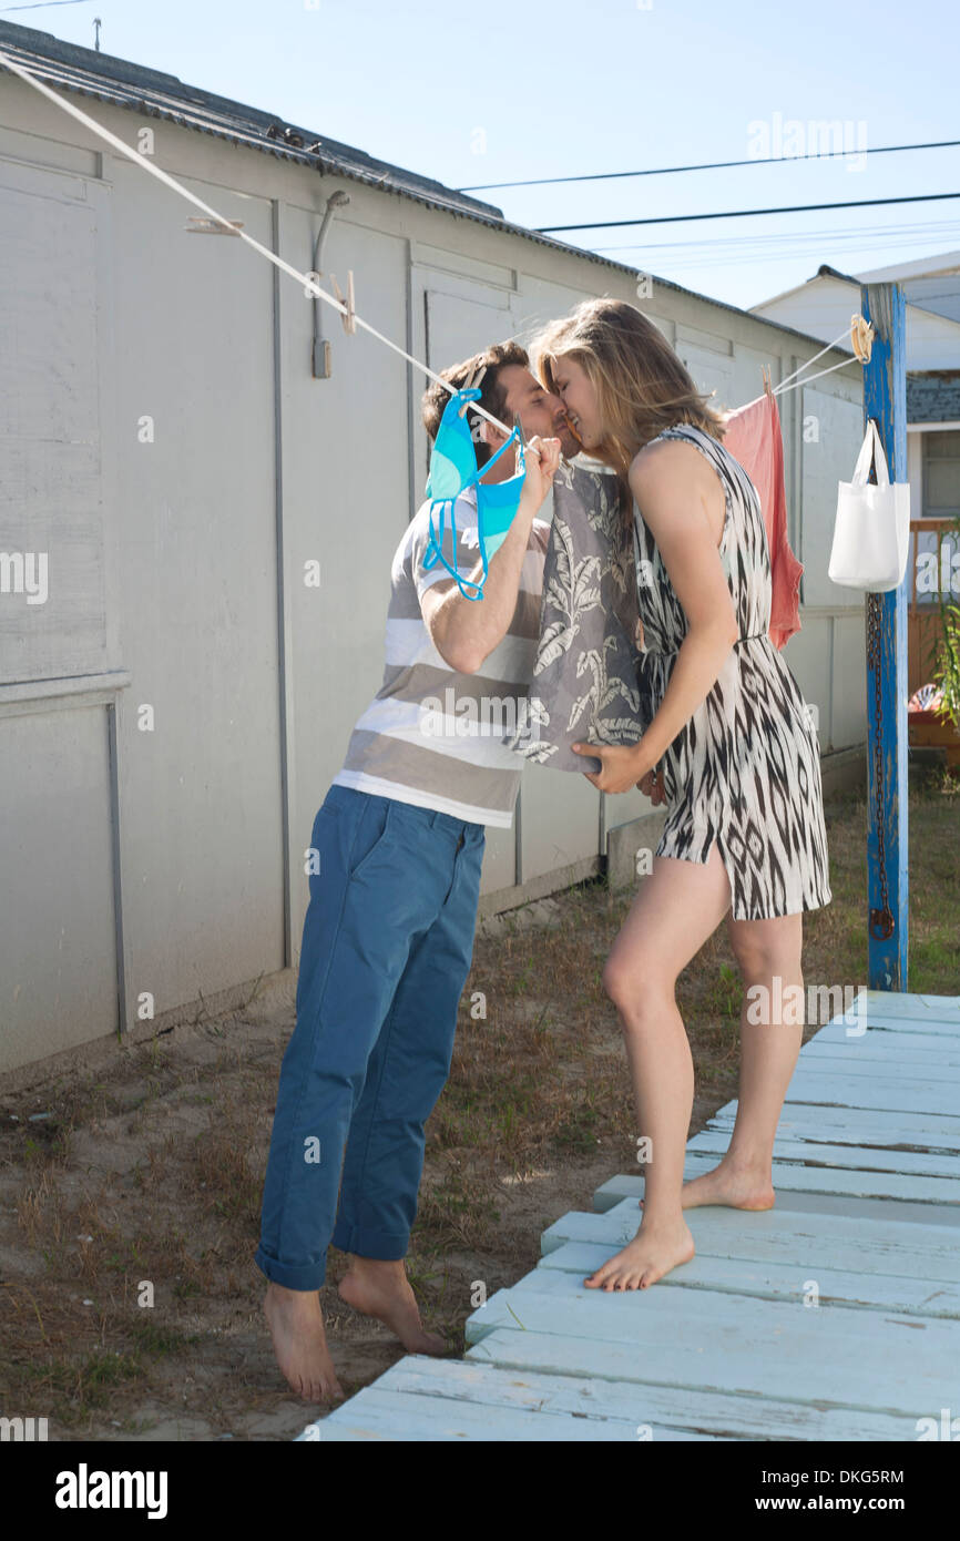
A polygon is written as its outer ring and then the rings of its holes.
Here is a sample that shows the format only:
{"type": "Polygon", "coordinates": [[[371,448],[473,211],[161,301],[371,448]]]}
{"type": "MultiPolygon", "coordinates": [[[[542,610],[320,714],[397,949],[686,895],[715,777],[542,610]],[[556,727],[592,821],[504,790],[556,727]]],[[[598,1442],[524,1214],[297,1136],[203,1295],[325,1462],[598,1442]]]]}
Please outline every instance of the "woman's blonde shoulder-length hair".
{"type": "Polygon", "coordinates": [[[561,321],[550,321],[530,344],[535,368],[549,391],[555,365],[575,359],[596,390],[604,425],[590,455],[619,475],[627,490],[633,456],[664,428],[689,422],[721,439],[724,422],[697,390],[686,365],[653,322],[623,299],[586,299],[561,321]]]}

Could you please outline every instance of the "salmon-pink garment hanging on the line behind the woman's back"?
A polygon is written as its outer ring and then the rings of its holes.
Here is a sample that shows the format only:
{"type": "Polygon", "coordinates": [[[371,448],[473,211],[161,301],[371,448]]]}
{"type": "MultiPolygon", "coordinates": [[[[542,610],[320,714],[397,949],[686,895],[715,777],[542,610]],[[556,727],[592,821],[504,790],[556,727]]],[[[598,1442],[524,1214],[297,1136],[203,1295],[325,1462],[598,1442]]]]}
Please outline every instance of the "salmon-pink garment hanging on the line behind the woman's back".
{"type": "Polygon", "coordinates": [[[803,562],[787,541],[787,501],[783,482],[783,431],[777,398],[766,393],[726,419],[724,447],[740,461],[760,496],[770,550],[770,641],[783,647],[800,630],[800,575],[803,562]]]}

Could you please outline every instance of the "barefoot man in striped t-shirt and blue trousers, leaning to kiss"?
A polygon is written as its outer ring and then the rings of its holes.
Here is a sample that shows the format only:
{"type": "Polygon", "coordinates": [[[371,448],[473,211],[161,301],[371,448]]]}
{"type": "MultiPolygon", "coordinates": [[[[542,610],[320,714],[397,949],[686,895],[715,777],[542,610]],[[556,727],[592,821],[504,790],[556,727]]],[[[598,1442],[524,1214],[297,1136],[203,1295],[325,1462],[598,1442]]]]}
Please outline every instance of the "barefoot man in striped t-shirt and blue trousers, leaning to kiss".
{"type": "MultiPolygon", "coordinates": [[[[350,1254],[344,1301],[385,1322],[410,1353],[445,1351],[424,1331],[404,1257],[424,1122],[450,1073],[473,955],[484,828],[510,828],[524,761],[502,732],[425,730],[422,709],[438,697],[522,707],[549,532],[536,512],[561,452],[579,448],[562,402],[533,378],[518,344],[444,374],[456,388],[475,376],[479,405],[509,425],[519,415],[538,452],[527,453],[519,509],[479,601],[441,562],[424,567],[428,502],[411,519],[393,558],[384,683],[313,826],[319,871],[310,877],[297,1020],[280,1069],[256,1253],[270,1281],[263,1305],[277,1364],[308,1401],[344,1395],[317,1294],[330,1244],[350,1254]]],[[[436,384],[424,396],[431,438],[447,401],[436,384]]],[[[476,415],[473,424],[484,465],[505,435],[476,415]]],[[[513,473],[505,452],[487,475],[513,473]]],[[[444,556],[464,579],[476,578],[473,488],[458,498],[455,521],[456,544],[447,521],[444,556]]]]}

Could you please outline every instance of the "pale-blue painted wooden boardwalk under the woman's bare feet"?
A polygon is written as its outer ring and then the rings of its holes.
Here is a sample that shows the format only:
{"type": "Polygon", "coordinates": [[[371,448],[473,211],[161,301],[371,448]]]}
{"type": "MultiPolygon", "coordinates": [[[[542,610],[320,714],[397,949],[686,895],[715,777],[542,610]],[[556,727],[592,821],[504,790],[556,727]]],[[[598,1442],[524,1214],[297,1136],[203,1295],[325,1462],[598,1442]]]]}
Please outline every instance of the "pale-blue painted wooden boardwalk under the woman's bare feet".
{"type": "MultiPolygon", "coordinates": [[[[464,1359],[410,1355],[299,1438],[915,1441],[960,1418],[960,995],[863,1002],[861,1036],[838,1017],[801,1049],[774,1210],[692,1210],[697,1257],[607,1294],[582,1279],[644,1187],[613,1177],[468,1318],[464,1359]]],[[[689,1142],[687,1177],[735,1111],[689,1142]]]]}

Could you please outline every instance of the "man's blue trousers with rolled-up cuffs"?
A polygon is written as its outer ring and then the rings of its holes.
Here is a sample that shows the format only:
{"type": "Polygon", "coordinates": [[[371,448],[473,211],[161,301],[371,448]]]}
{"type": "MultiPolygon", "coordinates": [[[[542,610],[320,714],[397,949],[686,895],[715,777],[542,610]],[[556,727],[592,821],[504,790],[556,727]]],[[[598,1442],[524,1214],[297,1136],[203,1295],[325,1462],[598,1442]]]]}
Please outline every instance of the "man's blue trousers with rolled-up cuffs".
{"type": "Polygon", "coordinates": [[[256,1251],[290,1290],[319,1290],[330,1244],[407,1254],[473,957],[484,826],[334,784],[311,846],[256,1251]]]}

